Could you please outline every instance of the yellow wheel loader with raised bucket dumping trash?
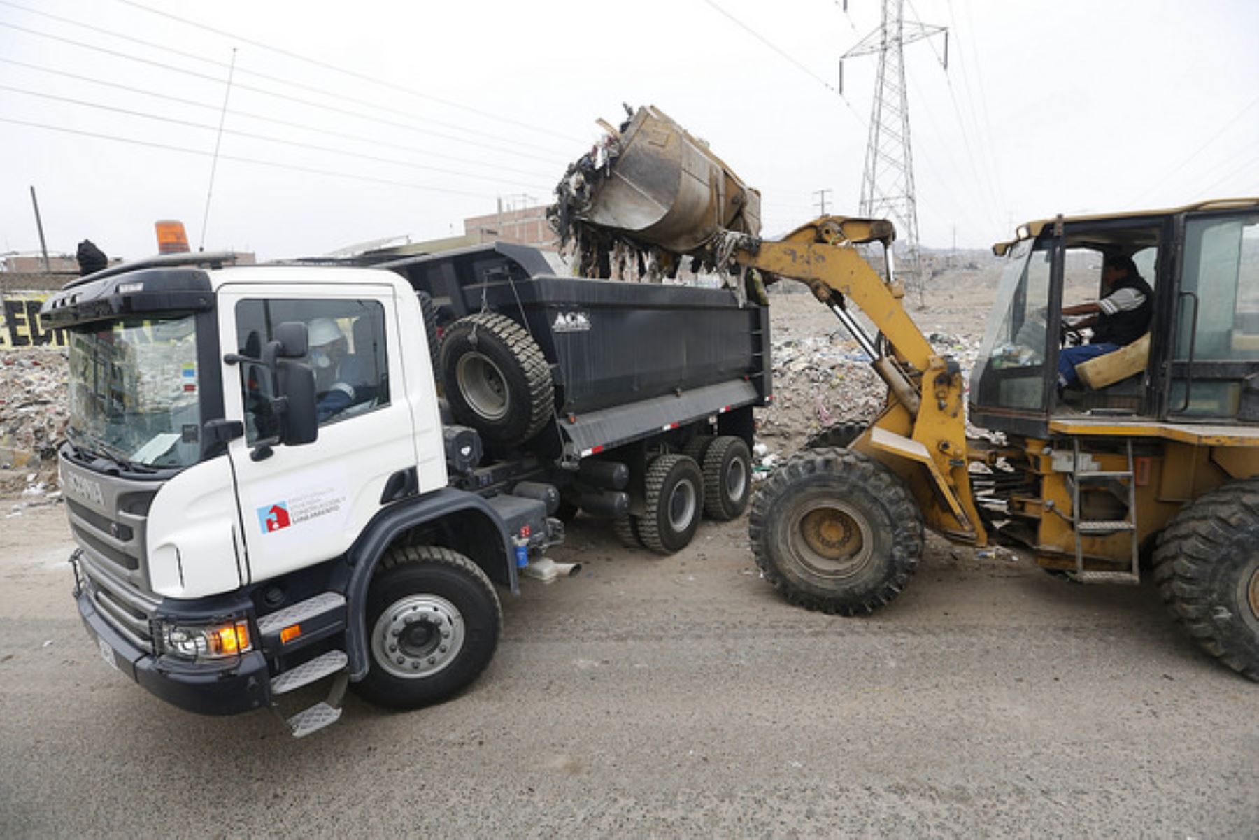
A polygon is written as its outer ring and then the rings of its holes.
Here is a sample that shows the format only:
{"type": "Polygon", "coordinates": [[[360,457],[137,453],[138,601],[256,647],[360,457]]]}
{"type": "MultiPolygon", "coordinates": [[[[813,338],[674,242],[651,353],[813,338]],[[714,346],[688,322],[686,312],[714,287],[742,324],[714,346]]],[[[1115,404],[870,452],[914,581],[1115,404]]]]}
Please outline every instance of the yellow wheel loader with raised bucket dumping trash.
{"type": "Polygon", "coordinates": [[[967,380],[903,306],[889,222],[822,217],[762,239],[759,194],[701,140],[650,107],[606,127],[556,189],[582,264],[630,247],[807,283],[888,383],[872,423],[828,429],[753,502],[757,563],[787,598],[879,608],[908,584],[925,528],[1021,545],[1083,583],[1137,583],[1152,554],[1176,620],[1259,680],[1259,199],[1020,227],[993,248],[1006,266],[967,380]],[[1114,261],[1144,278],[1148,331],[1060,365],[1081,355],[1063,316],[1103,297],[1114,261]]]}

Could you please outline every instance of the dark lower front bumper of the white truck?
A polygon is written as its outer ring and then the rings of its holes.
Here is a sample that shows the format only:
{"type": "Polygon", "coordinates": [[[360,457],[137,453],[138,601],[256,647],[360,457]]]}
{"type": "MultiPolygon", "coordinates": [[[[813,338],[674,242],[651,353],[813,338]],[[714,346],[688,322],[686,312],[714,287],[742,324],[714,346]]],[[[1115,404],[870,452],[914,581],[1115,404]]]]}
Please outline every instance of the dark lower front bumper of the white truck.
{"type": "Polygon", "coordinates": [[[92,603],[86,587],[74,593],[79,617],[112,667],[171,705],[198,714],[239,714],[271,704],[271,674],[259,651],[223,664],[185,662],[152,651],[116,631],[92,603]]]}

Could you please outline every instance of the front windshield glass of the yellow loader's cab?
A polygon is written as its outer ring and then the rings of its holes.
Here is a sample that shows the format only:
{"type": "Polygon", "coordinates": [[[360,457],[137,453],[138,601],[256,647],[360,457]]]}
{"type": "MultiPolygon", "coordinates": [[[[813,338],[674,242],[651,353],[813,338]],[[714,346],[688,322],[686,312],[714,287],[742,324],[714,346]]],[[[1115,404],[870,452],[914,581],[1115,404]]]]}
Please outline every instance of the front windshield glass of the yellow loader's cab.
{"type": "Polygon", "coordinates": [[[1022,242],[1001,275],[992,320],[983,336],[972,399],[981,407],[1042,411],[1045,359],[1050,335],[1049,268],[1051,252],[1022,242]]]}

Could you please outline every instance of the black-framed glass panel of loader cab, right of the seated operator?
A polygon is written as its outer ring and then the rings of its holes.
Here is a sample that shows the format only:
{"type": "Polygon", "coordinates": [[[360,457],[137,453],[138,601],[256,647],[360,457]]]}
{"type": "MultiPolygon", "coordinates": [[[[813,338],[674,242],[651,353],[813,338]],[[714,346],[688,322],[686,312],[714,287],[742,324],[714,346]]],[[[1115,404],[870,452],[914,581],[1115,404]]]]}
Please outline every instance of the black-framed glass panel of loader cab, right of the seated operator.
{"type": "Polygon", "coordinates": [[[1170,419],[1259,422],[1259,213],[1177,222],[1170,419]]]}

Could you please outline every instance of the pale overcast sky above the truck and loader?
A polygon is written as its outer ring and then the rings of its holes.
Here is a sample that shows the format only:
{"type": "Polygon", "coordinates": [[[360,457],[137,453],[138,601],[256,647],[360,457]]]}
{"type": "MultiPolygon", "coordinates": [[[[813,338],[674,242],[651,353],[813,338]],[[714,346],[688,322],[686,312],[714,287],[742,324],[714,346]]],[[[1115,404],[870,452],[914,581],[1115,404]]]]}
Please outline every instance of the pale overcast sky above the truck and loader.
{"type": "MultiPolygon", "coordinates": [[[[499,198],[549,200],[622,102],[708,140],[762,190],[767,234],[813,218],[816,190],[856,214],[876,58],[845,62],[842,97],[837,59],[879,15],[876,0],[0,0],[0,249],[39,248],[31,185],[52,252],[87,237],[142,257],[162,218],[196,247],[233,48],[206,249],[462,233],[499,198]]],[[[951,30],[948,71],[939,37],[905,50],[924,244],[1259,195],[1259,3],[914,0],[905,16],[951,30]]]]}

